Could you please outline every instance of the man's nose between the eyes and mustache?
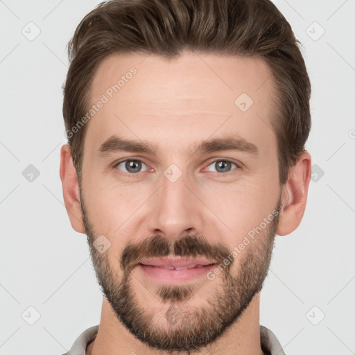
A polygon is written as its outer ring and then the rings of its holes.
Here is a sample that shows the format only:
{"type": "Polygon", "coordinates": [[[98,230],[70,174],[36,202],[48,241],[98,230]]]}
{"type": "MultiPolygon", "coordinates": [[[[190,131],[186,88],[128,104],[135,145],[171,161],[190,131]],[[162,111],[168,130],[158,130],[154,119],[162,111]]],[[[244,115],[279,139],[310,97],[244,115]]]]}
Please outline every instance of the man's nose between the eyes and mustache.
{"type": "Polygon", "coordinates": [[[160,188],[149,200],[149,232],[170,240],[201,234],[206,211],[199,195],[198,184],[187,181],[184,173],[175,182],[163,175],[160,188]]]}

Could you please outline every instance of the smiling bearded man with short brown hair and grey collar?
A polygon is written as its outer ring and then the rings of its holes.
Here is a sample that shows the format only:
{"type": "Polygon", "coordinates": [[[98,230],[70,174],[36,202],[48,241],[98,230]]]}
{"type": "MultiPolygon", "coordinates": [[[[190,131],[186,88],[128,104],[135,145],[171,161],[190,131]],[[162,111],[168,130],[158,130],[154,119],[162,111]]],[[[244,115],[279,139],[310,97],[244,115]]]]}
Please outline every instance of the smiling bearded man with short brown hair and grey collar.
{"type": "Polygon", "coordinates": [[[78,25],[60,178],[103,291],[67,354],[284,354],[259,324],[302,220],[309,76],[268,0],[113,0],[78,25]]]}

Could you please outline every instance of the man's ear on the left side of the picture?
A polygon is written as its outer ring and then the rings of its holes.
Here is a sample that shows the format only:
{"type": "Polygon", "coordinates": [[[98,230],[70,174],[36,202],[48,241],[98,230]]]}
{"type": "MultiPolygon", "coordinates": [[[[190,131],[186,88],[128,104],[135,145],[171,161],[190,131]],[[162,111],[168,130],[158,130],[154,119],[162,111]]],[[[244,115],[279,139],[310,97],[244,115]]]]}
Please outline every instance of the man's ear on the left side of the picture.
{"type": "Polygon", "coordinates": [[[76,232],[85,233],[83,213],[80,207],[79,182],[71,159],[71,148],[64,144],[60,148],[60,180],[62,180],[64,205],[71,227],[76,232]]]}

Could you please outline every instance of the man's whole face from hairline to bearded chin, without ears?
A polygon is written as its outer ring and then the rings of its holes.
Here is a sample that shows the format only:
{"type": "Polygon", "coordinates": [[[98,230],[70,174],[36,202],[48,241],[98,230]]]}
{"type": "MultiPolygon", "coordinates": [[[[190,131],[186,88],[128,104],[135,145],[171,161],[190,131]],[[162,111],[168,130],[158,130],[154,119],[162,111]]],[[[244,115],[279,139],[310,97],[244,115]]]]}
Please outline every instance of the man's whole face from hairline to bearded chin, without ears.
{"type": "Polygon", "coordinates": [[[281,203],[270,76],[257,58],[191,53],[96,71],[85,232],[112,310],[148,347],[198,351],[261,291],[281,203]]]}

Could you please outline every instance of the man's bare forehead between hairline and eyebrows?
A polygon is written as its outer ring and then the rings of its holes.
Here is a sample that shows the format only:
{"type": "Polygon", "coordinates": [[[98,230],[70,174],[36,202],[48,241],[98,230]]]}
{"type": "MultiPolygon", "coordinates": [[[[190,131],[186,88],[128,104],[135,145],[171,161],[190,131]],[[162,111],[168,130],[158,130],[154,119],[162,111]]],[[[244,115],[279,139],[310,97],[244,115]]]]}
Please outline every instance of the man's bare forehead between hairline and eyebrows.
{"type": "Polygon", "coordinates": [[[104,103],[89,120],[85,145],[97,148],[117,134],[170,143],[176,150],[187,140],[223,132],[261,149],[276,145],[271,125],[276,92],[270,68],[259,58],[114,54],[96,69],[90,92],[90,106],[104,103]]]}

